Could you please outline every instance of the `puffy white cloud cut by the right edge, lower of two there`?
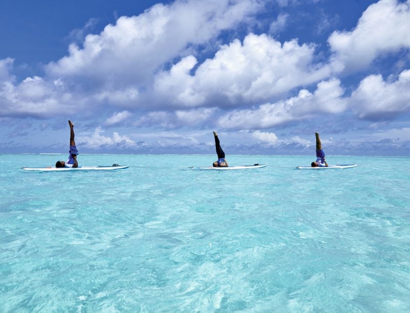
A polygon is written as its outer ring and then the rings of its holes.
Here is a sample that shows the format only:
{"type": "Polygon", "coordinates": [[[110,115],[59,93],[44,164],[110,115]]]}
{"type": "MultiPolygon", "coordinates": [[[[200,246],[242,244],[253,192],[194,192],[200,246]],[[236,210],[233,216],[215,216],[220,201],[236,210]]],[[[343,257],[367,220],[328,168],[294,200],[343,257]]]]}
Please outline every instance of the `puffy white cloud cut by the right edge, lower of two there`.
{"type": "Polygon", "coordinates": [[[410,70],[388,83],[381,75],[369,75],[352,93],[354,110],[360,118],[389,120],[400,112],[410,111],[410,70]]]}

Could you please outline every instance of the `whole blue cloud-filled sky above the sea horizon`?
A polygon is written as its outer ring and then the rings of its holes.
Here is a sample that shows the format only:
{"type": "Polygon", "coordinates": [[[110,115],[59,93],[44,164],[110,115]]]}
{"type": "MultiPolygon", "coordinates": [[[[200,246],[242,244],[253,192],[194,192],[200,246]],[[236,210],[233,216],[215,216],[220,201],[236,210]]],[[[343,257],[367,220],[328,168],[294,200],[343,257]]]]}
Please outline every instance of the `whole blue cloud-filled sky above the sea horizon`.
{"type": "Polygon", "coordinates": [[[410,0],[0,2],[0,153],[410,156],[410,0]]]}

